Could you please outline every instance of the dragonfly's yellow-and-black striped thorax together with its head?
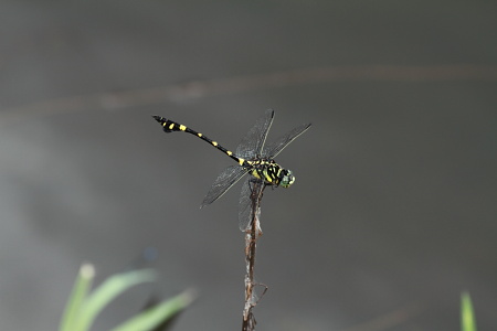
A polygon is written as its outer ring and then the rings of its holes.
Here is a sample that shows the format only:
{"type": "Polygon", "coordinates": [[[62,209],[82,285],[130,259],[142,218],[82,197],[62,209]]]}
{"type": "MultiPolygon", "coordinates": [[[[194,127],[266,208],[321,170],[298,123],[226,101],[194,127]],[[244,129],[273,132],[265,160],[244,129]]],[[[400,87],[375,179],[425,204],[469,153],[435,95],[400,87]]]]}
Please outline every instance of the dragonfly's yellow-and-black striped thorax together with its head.
{"type": "Polygon", "coordinates": [[[282,168],[273,159],[254,159],[246,163],[248,173],[264,180],[266,184],[288,188],[295,182],[293,172],[282,168]]]}

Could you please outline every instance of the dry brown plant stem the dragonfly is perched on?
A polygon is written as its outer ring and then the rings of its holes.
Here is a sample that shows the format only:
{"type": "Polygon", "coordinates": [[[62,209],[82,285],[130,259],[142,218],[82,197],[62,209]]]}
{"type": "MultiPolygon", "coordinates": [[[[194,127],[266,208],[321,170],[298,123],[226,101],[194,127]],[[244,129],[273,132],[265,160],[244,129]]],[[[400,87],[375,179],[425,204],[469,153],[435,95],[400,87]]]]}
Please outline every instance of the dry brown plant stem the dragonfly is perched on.
{"type": "Polygon", "coordinates": [[[256,286],[254,281],[254,267],[255,267],[255,248],[258,237],[262,236],[260,214],[261,214],[261,199],[263,195],[265,184],[261,182],[254,182],[252,188],[252,220],[251,228],[245,232],[245,306],[243,308],[243,323],[242,331],[255,330],[255,318],[252,312],[252,308],[257,305],[257,298],[254,292],[256,286]]]}

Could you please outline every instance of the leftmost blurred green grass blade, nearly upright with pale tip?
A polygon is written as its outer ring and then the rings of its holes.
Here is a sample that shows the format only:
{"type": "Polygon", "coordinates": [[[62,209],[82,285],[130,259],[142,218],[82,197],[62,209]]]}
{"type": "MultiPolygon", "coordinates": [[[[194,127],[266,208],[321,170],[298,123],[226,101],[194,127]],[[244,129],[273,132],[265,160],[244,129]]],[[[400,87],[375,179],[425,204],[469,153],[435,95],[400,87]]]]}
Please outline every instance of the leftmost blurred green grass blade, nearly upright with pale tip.
{"type": "Polygon", "coordinates": [[[91,264],[84,264],[74,281],[73,290],[65,306],[65,311],[59,325],[60,331],[76,330],[77,317],[95,277],[95,268],[91,264]]]}

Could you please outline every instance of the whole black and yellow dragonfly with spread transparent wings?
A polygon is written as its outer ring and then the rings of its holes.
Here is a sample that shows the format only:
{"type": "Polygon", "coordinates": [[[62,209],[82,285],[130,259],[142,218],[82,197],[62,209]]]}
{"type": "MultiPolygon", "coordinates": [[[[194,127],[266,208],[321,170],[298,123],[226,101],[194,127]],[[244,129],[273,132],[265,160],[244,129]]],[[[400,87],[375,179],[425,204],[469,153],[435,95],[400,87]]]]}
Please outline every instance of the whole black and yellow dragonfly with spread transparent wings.
{"type": "Polygon", "coordinates": [[[310,124],[300,125],[289,130],[273,143],[266,145],[267,134],[274,120],[274,110],[268,109],[263,117],[257,119],[252,129],[242,139],[236,151],[232,152],[221,146],[218,141],[212,140],[203,134],[190,129],[184,125],[166,119],[161,116],[154,115],[152,117],[162,126],[165,132],[182,131],[193,135],[215,147],[236,162],[236,164],[228,167],[218,175],[218,179],[212,184],[200,207],[213,203],[242,178],[248,175],[248,179],[242,186],[239,204],[239,226],[242,232],[246,232],[251,225],[251,193],[255,183],[260,183],[264,186],[289,188],[295,182],[294,173],[276,163],[274,158],[310,127],[310,124]]]}

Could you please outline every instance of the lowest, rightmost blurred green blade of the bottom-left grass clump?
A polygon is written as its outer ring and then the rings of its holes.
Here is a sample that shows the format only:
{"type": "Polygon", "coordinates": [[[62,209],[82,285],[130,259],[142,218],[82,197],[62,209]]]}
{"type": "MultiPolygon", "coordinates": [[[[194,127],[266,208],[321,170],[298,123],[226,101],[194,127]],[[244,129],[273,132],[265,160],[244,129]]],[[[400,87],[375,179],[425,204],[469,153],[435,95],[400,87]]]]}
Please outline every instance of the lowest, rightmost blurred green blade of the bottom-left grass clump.
{"type": "Polygon", "coordinates": [[[112,331],[147,331],[152,330],[166,320],[187,308],[194,299],[194,293],[187,290],[171,299],[162,301],[138,316],[130,318],[112,331]]]}

